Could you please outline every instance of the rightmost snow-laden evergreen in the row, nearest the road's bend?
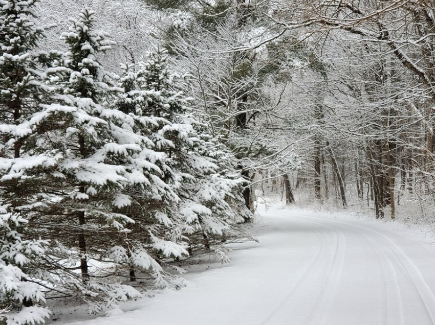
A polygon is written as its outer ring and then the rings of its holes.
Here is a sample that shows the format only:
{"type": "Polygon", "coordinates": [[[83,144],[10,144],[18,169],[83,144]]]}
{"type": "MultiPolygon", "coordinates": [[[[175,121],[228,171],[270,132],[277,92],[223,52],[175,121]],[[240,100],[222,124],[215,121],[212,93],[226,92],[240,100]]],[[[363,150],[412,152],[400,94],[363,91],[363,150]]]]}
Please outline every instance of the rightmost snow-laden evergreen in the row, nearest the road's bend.
{"type": "Polygon", "coordinates": [[[181,91],[186,85],[169,69],[165,49],[148,53],[136,75],[130,72],[123,81],[130,89],[129,100],[124,98],[119,105],[154,121],[149,137],[168,157],[162,180],[177,193],[178,201],[163,212],[165,218],[161,219],[162,212],[155,216],[161,225],[169,220],[179,226],[171,227],[166,240],[186,237],[190,251],[202,247],[227,260],[222,236],[231,225],[249,218],[237,195],[244,179],[231,168],[233,156],[189,112],[189,99],[181,91]]]}

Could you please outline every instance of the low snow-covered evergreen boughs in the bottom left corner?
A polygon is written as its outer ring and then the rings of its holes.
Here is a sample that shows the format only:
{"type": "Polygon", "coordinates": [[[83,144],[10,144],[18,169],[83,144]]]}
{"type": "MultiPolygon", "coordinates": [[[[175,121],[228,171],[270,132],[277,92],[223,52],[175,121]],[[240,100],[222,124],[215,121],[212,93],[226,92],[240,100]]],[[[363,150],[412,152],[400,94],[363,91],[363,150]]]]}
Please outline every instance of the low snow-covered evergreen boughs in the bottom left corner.
{"type": "Polygon", "coordinates": [[[44,254],[48,242],[25,239],[21,233],[28,221],[10,211],[9,205],[0,205],[0,308],[8,311],[0,316],[0,322],[44,323],[50,312],[39,306],[45,297],[35,278],[39,263],[34,261],[44,254]]]}

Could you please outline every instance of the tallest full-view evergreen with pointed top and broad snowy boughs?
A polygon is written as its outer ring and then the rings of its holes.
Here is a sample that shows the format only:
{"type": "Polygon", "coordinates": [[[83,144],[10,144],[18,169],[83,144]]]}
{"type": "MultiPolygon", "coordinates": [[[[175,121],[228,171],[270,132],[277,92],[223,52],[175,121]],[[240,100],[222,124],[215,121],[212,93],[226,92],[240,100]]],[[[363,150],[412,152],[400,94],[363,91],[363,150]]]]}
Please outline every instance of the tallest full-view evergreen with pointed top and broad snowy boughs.
{"type": "Polygon", "coordinates": [[[115,274],[140,268],[163,287],[167,274],[151,252],[180,257],[187,251],[144,223],[148,210],[161,210],[177,197],[160,177],[166,155],[152,149],[146,134],[156,122],[108,108],[120,89],[97,59],[112,42],[94,30],[94,17],[83,10],[62,35],[70,52],[48,72],[52,103],[34,116],[41,131],[32,141],[36,151],[58,157],[47,173],[51,186],[42,198],[47,208],[40,224],[52,239],[47,258],[62,274],[59,290],[79,295],[91,312],[99,312],[139,296],[115,274]],[[76,261],[80,275],[72,271],[76,261]]]}

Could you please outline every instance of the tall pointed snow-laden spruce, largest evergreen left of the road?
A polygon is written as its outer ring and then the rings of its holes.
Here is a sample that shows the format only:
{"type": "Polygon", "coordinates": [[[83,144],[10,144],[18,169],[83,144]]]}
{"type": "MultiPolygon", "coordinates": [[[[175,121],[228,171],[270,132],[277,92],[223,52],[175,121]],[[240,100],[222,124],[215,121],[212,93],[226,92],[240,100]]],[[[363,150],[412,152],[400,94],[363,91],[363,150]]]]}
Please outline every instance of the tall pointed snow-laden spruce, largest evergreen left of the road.
{"type": "MultiPolygon", "coordinates": [[[[148,138],[125,130],[121,126],[131,120],[104,107],[114,89],[96,55],[111,41],[93,31],[93,16],[84,10],[63,35],[70,52],[47,72],[50,99],[17,125],[27,132],[22,143],[29,149],[4,162],[3,179],[38,182],[39,193],[29,194],[31,202],[21,210],[31,215],[32,231],[51,240],[38,261],[50,265],[41,278],[51,280],[50,289],[79,296],[91,312],[99,312],[104,305],[140,296],[110,277],[116,267],[107,263],[116,262],[109,252],[128,232],[125,225],[134,223],[120,210],[129,204],[123,189],[133,184],[143,190],[150,181],[142,170],[159,168],[147,159],[148,138]]],[[[148,268],[159,273],[157,263],[148,268]]]]}

